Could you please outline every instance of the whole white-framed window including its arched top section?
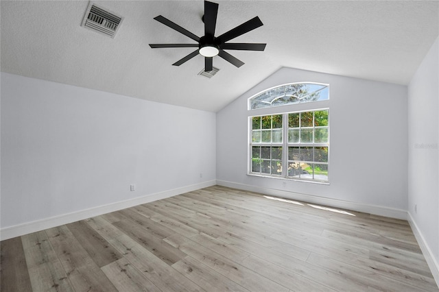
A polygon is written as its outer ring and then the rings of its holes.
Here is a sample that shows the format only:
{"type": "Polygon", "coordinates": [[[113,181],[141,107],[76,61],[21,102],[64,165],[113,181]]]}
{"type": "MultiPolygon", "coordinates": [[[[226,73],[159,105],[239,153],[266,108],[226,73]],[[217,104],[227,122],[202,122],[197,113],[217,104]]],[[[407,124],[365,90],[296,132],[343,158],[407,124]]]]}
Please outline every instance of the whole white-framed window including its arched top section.
{"type": "MultiPolygon", "coordinates": [[[[329,98],[326,84],[320,84],[322,86],[320,91],[314,90],[312,94],[306,92],[306,86],[294,85],[296,89],[302,88],[301,94],[303,96],[313,95],[313,98],[316,98],[317,95],[320,97],[325,95],[323,99],[329,98]]],[[[276,88],[284,88],[285,93],[287,87],[278,86],[276,88]]],[[[316,88],[318,87],[313,87],[313,89],[316,88]]],[[[271,94],[273,90],[274,88],[271,88],[265,93],[271,94]]],[[[249,105],[261,103],[263,101],[262,95],[264,93],[250,98],[249,105]],[[257,99],[257,101],[253,103],[252,99],[257,99]]],[[[271,104],[280,103],[280,100],[274,101],[272,99],[274,102],[271,104]]],[[[292,104],[290,101],[291,99],[283,99],[283,103],[287,105],[292,104]]],[[[280,106],[280,104],[276,106],[280,106]]],[[[250,116],[249,127],[249,174],[311,182],[329,182],[328,108],[250,116]]]]}

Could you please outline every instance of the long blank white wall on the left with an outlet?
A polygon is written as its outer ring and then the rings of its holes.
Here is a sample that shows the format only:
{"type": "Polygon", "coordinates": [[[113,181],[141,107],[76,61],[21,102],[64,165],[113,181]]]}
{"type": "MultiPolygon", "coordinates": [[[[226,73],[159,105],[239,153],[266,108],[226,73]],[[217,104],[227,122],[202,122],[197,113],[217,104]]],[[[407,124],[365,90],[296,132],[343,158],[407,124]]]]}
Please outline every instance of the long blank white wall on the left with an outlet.
{"type": "Polygon", "coordinates": [[[215,184],[215,151],[213,112],[1,73],[2,235],[215,184]]]}

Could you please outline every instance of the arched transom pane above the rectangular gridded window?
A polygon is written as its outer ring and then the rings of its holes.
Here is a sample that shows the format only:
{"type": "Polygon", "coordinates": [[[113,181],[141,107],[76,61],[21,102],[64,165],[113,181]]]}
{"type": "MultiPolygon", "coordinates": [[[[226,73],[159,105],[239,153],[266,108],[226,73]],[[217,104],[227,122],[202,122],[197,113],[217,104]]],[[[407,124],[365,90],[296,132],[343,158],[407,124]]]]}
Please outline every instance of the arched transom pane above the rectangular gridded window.
{"type": "Polygon", "coordinates": [[[329,99],[329,84],[289,83],[263,90],[248,99],[248,109],[272,108],[329,99]]]}

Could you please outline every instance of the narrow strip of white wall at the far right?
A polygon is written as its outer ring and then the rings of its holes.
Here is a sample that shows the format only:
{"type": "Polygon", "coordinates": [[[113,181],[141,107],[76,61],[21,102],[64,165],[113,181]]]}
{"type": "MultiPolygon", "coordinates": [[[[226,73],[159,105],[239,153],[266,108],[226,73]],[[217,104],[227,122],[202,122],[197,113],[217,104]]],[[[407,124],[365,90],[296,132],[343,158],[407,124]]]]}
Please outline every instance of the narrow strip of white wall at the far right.
{"type": "Polygon", "coordinates": [[[439,38],[408,86],[408,212],[439,284],[438,99],[439,38]]]}

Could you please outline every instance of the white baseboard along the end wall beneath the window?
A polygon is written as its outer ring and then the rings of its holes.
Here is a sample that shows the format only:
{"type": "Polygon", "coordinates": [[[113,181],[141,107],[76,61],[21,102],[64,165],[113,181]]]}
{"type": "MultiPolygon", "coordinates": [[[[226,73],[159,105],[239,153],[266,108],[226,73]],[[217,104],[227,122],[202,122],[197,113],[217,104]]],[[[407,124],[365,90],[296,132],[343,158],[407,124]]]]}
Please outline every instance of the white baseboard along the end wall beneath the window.
{"type": "Polygon", "coordinates": [[[217,185],[228,186],[230,188],[238,188],[244,191],[252,191],[255,193],[263,193],[265,195],[273,195],[276,197],[285,197],[287,199],[297,199],[298,201],[321,204],[324,206],[331,206],[335,208],[343,208],[357,212],[365,212],[373,215],[384,217],[391,217],[396,219],[407,220],[407,211],[395,208],[387,208],[382,206],[361,204],[340,199],[331,199],[327,197],[318,197],[316,195],[307,195],[303,193],[294,193],[291,191],[282,191],[274,188],[264,188],[261,186],[250,186],[248,184],[239,184],[236,182],[228,182],[225,180],[217,180],[217,185]]]}

